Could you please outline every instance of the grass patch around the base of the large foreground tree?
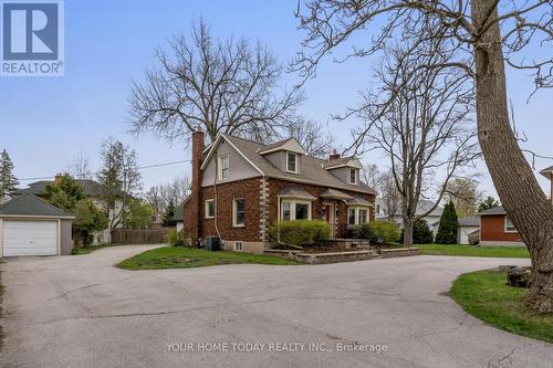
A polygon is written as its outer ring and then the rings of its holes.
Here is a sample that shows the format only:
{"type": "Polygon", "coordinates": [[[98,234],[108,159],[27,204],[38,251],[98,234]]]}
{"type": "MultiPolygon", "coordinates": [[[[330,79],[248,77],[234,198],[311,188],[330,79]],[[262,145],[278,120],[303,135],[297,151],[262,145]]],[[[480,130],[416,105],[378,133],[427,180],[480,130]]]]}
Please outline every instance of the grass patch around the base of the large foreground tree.
{"type": "Polygon", "coordinates": [[[507,272],[466,273],[453,282],[451,297],[472,316],[510,333],[553,343],[553,314],[523,304],[528,288],[505,285],[507,272]]]}

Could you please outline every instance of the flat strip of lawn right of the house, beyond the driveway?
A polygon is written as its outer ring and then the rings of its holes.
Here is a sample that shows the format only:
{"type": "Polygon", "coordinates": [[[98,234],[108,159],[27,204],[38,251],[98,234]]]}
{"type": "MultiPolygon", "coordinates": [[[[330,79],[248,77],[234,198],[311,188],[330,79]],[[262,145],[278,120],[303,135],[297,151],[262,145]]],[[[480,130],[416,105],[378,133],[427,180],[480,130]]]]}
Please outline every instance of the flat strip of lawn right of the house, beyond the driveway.
{"type": "Polygon", "coordinates": [[[461,244],[415,244],[422,254],[528,259],[525,246],[472,246],[461,244]]]}

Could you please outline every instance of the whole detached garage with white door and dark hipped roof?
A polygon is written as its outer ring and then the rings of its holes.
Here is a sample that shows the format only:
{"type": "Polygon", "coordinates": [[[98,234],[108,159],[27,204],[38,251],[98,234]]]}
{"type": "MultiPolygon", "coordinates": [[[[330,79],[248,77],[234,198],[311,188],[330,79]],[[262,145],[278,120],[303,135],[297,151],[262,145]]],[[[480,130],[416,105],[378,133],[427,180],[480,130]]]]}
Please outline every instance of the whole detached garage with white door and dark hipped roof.
{"type": "Polygon", "coordinates": [[[72,219],[33,194],[0,204],[0,256],[71,254],[72,219]]]}

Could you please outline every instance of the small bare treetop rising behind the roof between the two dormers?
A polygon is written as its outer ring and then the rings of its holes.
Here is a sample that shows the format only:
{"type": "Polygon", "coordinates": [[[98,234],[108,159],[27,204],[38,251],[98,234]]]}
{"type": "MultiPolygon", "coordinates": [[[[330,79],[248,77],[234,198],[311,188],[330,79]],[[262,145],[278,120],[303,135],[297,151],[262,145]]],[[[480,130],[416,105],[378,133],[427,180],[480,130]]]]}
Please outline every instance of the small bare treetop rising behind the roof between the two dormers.
{"type": "Polygon", "coordinates": [[[294,137],[309,156],[325,158],[332,149],[333,139],[322,124],[306,118],[290,122],[285,129],[286,137],[294,137]]]}

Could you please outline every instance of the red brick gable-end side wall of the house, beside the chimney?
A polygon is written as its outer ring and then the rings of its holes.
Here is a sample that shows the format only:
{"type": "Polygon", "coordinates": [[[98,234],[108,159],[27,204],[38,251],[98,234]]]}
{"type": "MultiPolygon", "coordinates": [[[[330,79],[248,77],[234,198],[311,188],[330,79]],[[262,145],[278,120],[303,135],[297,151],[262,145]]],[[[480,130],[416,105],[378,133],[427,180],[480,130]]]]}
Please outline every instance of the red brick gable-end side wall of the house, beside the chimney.
{"type": "MultiPolygon", "coordinates": [[[[240,181],[217,185],[216,215],[217,228],[223,240],[232,241],[261,241],[260,238],[260,179],[251,178],[240,181]],[[246,219],[243,228],[232,227],[232,201],[243,198],[246,200],[246,219]]],[[[215,199],[213,187],[202,188],[204,201],[215,199]]],[[[202,204],[200,218],[202,219],[202,236],[216,235],[215,219],[206,219],[206,206],[202,204]]]]}

